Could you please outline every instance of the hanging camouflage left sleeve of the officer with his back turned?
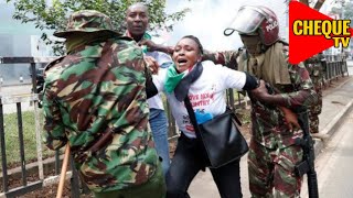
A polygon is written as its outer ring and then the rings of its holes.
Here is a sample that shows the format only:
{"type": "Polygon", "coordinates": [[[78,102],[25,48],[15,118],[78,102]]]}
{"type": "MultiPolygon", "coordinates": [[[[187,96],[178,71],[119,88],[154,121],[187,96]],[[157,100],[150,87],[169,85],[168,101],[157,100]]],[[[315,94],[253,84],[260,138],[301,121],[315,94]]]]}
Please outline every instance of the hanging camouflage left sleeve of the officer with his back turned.
{"type": "Polygon", "coordinates": [[[44,111],[44,144],[51,150],[63,147],[67,138],[62,121],[60,107],[50,90],[50,86],[44,85],[43,111],[44,111]]]}

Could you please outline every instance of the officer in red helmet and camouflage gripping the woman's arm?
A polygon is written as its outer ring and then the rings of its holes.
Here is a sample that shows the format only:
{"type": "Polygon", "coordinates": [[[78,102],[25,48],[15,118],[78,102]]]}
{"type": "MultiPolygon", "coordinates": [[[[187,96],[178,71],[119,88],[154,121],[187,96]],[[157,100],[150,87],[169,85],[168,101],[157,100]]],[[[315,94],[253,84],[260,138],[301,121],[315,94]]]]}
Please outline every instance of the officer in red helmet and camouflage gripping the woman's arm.
{"type": "Polygon", "coordinates": [[[286,44],[278,36],[277,16],[268,8],[242,7],[224,33],[231,35],[235,31],[246,51],[213,53],[204,58],[236,66],[274,89],[269,95],[261,84],[250,92],[253,135],[248,174],[252,197],[299,197],[302,178],[295,174],[295,166],[302,161],[302,148],[296,145],[296,139],[303,134],[293,111],[317,101],[308,70],[302,63],[288,63],[286,44]]]}

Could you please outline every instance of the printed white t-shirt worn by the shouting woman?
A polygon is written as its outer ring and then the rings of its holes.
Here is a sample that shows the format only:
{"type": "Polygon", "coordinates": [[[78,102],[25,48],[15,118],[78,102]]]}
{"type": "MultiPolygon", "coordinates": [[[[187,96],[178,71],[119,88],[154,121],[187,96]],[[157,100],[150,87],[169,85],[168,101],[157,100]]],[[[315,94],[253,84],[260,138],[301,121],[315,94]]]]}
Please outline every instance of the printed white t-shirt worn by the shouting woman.
{"type": "MultiPolygon", "coordinates": [[[[228,88],[242,90],[246,81],[246,75],[222,65],[215,65],[210,61],[202,62],[202,65],[203,72],[199,79],[190,86],[188,96],[194,110],[199,109],[215,117],[225,112],[225,90],[228,88]]],[[[153,84],[159,91],[164,91],[165,79],[167,69],[160,69],[159,74],[153,76],[153,84]]],[[[178,128],[186,136],[196,138],[184,102],[178,101],[174,92],[165,92],[165,95],[178,128]]]]}

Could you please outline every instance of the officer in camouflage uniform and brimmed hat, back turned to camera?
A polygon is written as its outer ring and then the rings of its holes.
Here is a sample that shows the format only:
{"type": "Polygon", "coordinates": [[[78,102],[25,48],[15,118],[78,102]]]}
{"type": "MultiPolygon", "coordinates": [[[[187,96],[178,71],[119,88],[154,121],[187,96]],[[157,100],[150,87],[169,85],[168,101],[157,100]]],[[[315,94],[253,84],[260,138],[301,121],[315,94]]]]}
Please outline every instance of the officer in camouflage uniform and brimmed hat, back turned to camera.
{"type": "Polygon", "coordinates": [[[165,184],[148,124],[142,51],[113,31],[110,19],[84,10],[71,15],[67,55],[44,72],[44,141],[71,147],[95,197],[161,198],[165,184]]]}

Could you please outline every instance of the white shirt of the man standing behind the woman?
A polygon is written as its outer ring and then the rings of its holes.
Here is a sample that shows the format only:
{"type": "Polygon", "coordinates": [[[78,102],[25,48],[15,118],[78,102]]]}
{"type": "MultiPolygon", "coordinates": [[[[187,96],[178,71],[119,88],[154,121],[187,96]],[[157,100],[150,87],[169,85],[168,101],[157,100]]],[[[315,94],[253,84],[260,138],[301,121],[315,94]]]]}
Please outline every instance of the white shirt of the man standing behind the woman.
{"type": "MultiPolygon", "coordinates": [[[[173,64],[172,58],[168,54],[162,53],[162,52],[158,52],[158,51],[147,52],[146,56],[153,57],[161,68],[167,68],[173,64]]],[[[147,101],[148,101],[148,106],[150,109],[164,110],[163,101],[162,101],[162,98],[159,94],[152,98],[149,98],[147,101]]]]}

